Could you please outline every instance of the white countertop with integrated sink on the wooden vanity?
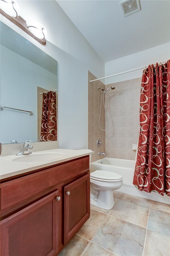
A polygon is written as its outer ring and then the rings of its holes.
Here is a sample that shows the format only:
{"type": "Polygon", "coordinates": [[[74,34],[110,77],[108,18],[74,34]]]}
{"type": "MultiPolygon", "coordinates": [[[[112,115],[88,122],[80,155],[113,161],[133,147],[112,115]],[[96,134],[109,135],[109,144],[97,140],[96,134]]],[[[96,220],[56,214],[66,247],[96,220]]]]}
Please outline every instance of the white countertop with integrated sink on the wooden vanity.
{"type": "Polygon", "coordinates": [[[93,153],[94,152],[90,149],[52,149],[33,152],[30,155],[3,156],[0,157],[0,179],[12,177],[22,173],[27,173],[28,171],[33,171],[39,168],[55,165],[57,163],[65,162],[78,157],[83,157],[85,155],[91,155],[93,153]],[[48,159],[48,155],[50,156],[49,158],[52,159],[48,159]],[[36,161],[36,157],[38,161],[36,161]],[[26,159],[26,161],[23,161],[23,159],[26,159]]]}

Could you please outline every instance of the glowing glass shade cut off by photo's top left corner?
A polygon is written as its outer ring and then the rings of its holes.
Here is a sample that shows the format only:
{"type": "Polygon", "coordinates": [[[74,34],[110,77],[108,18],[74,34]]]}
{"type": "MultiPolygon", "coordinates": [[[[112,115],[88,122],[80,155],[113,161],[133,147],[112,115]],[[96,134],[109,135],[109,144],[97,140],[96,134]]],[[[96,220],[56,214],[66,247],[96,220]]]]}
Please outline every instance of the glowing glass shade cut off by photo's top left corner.
{"type": "Polygon", "coordinates": [[[0,7],[6,14],[12,17],[16,18],[20,14],[20,8],[18,3],[12,0],[1,0],[0,7]]]}

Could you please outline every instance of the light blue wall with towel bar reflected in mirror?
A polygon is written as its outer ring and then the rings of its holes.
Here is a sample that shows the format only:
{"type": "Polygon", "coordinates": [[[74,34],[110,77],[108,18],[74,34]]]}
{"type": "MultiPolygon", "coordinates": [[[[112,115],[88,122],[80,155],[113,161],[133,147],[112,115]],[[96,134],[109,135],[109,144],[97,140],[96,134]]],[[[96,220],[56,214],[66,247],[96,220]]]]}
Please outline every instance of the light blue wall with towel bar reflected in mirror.
{"type": "Polygon", "coordinates": [[[1,105],[33,111],[1,111],[1,143],[37,142],[37,86],[57,88],[57,75],[1,45],[1,105]],[[30,75],[31,74],[31,75],[30,75]],[[18,124],[18,125],[16,125],[18,124]]]}

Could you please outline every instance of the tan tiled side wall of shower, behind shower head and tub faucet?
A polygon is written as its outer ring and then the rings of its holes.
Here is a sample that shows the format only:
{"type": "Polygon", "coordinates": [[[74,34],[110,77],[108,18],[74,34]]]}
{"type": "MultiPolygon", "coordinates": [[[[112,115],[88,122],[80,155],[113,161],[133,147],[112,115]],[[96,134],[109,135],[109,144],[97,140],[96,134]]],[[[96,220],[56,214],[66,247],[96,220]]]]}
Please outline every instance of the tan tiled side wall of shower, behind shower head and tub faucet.
{"type": "MultiPolygon", "coordinates": [[[[105,85],[101,81],[90,83],[90,80],[96,77],[88,71],[88,148],[95,153],[92,155],[91,162],[103,158],[98,152],[105,152],[105,131],[99,128],[100,99],[102,91],[98,87],[105,89],[105,85]],[[97,139],[103,142],[103,146],[97,147],[97,139]]],[[[100,126],[105,129],[105,112],[102,105],[100,126]]]]}

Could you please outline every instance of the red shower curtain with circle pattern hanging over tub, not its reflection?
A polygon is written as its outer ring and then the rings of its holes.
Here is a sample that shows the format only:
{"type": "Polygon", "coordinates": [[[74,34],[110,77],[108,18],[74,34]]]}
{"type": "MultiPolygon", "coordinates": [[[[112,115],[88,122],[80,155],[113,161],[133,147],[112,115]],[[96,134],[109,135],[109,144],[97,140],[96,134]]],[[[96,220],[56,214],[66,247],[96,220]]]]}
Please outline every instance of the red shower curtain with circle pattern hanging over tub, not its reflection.
{"type": "Polygon", "coordinates": [[[170,60],[143,71],[133,184],[170,196],[170,60]]]}

